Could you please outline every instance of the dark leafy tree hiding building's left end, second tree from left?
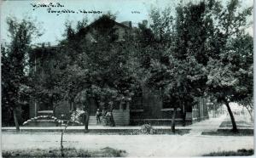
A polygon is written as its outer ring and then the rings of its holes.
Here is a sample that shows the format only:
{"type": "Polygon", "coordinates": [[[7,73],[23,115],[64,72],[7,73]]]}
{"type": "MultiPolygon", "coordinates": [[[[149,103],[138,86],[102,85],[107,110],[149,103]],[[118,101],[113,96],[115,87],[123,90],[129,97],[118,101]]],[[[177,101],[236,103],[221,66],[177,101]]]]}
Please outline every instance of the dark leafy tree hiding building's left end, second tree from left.
{"type": "Polygon", "coordinates": [[[39,104],[44,104],[48,110],[53,110],[61,99],[61,66],[63,66],[62,55],[59,48],[45,48],[44,43],[40,48],[33,48],[29,53],[29,85],[32,87],[31,99],[39,104]]]}

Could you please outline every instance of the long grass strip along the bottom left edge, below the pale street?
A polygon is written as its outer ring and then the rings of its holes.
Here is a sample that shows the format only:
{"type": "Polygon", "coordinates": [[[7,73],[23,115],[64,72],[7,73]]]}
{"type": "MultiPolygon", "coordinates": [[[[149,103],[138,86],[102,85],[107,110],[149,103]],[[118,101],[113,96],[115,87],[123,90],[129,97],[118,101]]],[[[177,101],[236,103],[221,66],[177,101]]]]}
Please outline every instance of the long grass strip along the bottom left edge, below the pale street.
{"type": "MultiPolygon", "coordinates": [[[[125,150],[115,150],[109,147],[101,150],[77,150],[74,148],[64,149],[65,157],[124,157],[125,155],[125,150]]],[[[3,150],[3,157],[61,157],[61,150],[3,150]]]]}

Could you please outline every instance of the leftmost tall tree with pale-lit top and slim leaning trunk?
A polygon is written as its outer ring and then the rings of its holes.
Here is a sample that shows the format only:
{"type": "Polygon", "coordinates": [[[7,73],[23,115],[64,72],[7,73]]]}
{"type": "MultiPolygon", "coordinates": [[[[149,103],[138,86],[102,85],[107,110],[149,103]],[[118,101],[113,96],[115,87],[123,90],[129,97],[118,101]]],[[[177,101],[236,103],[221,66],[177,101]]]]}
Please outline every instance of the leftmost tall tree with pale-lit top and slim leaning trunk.
{"type": "Polygon", "coordinates": [[[26,56],[32,38],[41,34],[31,19],[18,21],[9,17],[7,24],[10,44],[2,54],[2,70],[5,70],[2,77],[3,106],[12,111],[16,130],[20,131],[17,110],[20,106],[20,88],[26,84],[26,56]]]}

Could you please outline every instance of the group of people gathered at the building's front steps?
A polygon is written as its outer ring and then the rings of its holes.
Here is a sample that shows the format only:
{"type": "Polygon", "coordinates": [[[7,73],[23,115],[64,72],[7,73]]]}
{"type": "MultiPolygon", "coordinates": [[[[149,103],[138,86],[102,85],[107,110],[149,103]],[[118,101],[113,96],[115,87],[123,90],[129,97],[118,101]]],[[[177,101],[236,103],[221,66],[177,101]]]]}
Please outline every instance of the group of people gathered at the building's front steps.
{"type": "Polygon", "coordinates": [[[103,121],[104,125],[114,126],[112,119],[113,117],[110,111],[102,110],[102,112],[100,112],[99,109],[96,110],[97,124],[102,123],[103,121]],[[101,120],[101,117],[102,117],[102,120],[101,120]]]}

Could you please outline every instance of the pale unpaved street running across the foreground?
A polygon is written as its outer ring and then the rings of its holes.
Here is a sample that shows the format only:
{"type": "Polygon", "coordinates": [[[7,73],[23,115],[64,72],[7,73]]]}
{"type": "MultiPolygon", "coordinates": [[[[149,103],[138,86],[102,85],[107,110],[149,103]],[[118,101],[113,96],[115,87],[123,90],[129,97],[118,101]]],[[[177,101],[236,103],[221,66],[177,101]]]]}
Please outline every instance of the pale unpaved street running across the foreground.
{"type": "MultiPolygon", "coordinates": [[[[60,148],[61,133],[3,133],[2,150],[60,148]]],[[[128,156],[203,155],[212,151],[252,149],[253,137],[180,135],[85,135],[67,133],[64,147],[97,150],[111,147],[128,156]]]]}

